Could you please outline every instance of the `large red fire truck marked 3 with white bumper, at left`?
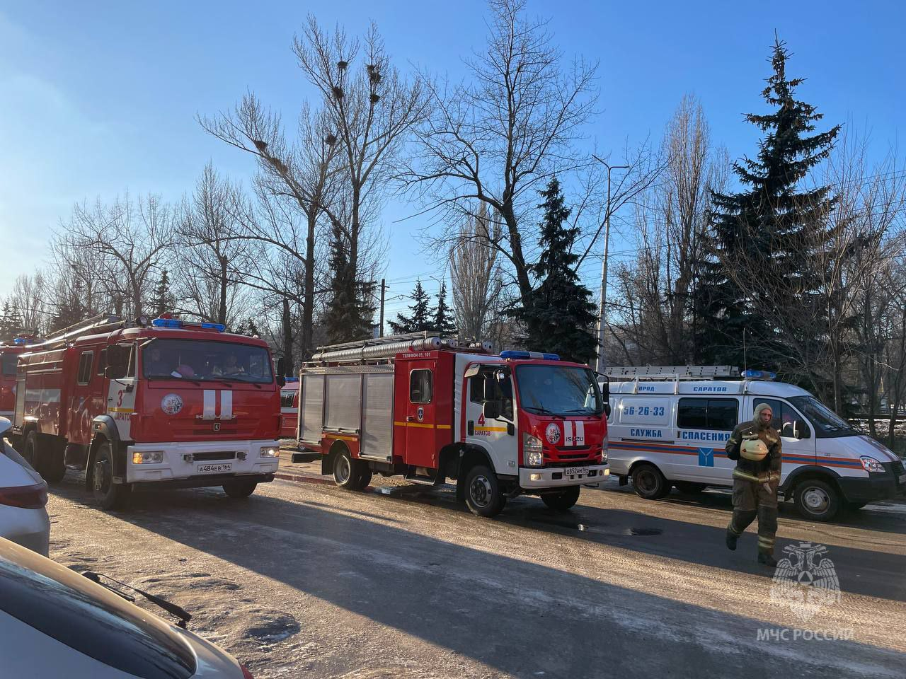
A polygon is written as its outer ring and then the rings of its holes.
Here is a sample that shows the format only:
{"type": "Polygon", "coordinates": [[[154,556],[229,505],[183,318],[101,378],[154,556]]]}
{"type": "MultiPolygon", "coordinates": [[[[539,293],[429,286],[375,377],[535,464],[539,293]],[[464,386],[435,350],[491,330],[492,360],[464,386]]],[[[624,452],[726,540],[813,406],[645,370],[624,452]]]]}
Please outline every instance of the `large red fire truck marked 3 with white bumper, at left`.
{"type": "Polygon", "coordinates": [[[11,432],[47,481],[84,470],[104,509],[141,488],[247,497],[277,470],[279,381],[262,339],[98,317],[19,357],[11,432]]]}

